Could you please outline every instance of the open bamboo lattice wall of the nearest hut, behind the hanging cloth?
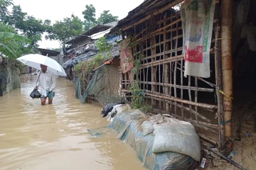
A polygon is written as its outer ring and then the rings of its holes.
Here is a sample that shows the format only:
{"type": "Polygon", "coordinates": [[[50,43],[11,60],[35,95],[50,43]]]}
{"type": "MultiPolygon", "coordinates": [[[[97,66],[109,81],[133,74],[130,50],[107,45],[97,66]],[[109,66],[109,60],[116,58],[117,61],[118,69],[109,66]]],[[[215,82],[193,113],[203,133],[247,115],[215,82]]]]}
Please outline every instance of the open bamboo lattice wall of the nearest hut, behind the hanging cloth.
{"type": "MultiPolygon", "coordinates": [[[[138,79],[141,89],[146,91],[146,103],[152,106],[151,111],[191,122],[203,139],[218,143],[218,146],[223,142],[218,125],[223,116],[218,91],[221,69],[215,69],[220,68],[215,67],[220,65],[219,25],[220,5],[216,4],[209,79],[183,77],[183,33],[179,11],[164,11],[127,30],[136,39],[134,60],[141,60],[138,79]],[[215,93],[216,89],[218,93],[215,93]]],[[[121,93],[127,98],[131,97],[127,88],[130,78],[129,73],[121,76],[121,93]]]]}

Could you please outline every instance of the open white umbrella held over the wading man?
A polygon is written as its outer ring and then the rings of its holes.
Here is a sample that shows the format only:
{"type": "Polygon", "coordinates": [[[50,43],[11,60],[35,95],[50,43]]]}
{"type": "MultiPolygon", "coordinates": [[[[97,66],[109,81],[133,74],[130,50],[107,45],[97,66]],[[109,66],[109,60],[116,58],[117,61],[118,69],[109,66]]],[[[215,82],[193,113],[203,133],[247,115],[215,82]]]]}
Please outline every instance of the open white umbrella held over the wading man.
{"type": "Polygon", "coordinates": [[[58,62],[49,57],[38,54],[31,54],[23,55],[22,57],[19,57],[17,60],[29,67],[33,67],[39,70],[41,70],[40,64],[46,65],[48,67],[47,69],[56,76],[67,77],[67,74],[65,74],[65,70],[63,69],[63,67],[61,67],[61,65],[58,64],[58,62]]]}

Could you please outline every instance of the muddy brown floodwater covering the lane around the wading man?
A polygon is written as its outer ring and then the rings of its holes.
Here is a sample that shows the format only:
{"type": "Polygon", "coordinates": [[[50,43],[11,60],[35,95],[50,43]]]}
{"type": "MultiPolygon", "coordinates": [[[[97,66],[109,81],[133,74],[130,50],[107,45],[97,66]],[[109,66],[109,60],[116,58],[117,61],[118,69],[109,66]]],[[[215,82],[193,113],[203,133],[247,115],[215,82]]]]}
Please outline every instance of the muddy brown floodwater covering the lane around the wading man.
{"type": "Polygon", "coordinates": [[[108,125],[101,108],[81,104],[73,84],[58,79],[53,105],[31,99],[36,77],[0,97],[0,169],[144,169],[117,134],[93,137],[87,129],[108,125]]]}

